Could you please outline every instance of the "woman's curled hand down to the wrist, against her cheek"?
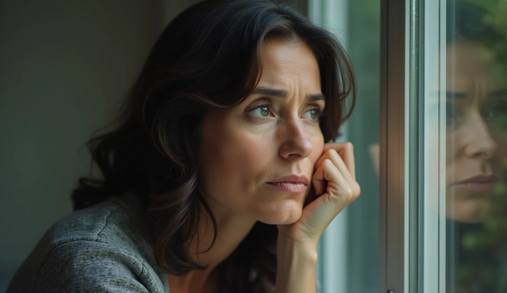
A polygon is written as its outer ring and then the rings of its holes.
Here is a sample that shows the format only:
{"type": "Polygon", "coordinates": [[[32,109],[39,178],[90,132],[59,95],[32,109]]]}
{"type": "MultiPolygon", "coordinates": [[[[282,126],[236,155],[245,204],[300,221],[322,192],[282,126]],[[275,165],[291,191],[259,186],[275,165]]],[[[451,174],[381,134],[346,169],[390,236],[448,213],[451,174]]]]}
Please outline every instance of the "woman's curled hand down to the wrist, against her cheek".
{"type": "Polygon", "coordinates": [[[360,193],[355,180],[353,146],[350,142],[324,144],[322,156],[315,164],[312,177],[314,194],[299,220],[291,225],[278,225],[280,236],[300,245],[316,248],[324,229],[360,193]]]}

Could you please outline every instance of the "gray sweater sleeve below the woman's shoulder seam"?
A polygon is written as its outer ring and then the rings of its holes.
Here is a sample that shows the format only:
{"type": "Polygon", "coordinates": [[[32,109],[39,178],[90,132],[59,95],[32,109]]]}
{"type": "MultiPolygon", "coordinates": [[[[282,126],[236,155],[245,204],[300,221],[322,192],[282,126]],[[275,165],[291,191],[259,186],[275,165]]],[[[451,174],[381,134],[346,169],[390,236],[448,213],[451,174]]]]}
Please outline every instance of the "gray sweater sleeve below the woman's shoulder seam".
{"type": "Polygon", "coordinates": [[[99,241],[71,240],[49,251],[31,291],[162,293],[160,285],[129,251],[99,241]]]}

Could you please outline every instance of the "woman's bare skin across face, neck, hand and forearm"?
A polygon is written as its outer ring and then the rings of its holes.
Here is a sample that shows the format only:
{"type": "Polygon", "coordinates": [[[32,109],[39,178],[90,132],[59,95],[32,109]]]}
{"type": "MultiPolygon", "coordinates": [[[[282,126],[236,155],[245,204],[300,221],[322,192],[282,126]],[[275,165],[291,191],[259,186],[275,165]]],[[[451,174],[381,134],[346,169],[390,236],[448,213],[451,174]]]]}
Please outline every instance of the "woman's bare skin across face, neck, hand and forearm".
{"type": "Polygon", "coordinates": [[[216,292],[215,271],[257,221],[277,225],[276,292],[315,292],[316,246],[332,219],[359,195],[352,145],[324,144],[315,109],[324,109],[317,60],[302,41],[269,40],[263,48],[260,82],[240,105],[206,117],[201,153],[203,196],[217,221],[202,213],[189,253],[208,267],[169,275],[171,293],[216,292]],[[285,97],[260,89],[284,90],[285,97]],[[266,106],[266,103],[270,106],[266,106]],[[261,107],[259,107],[261,106],[261,107]],[[343,159],[342,159],[343,158],[343,159]],[[304,192],[286,192],[269,182],[298,174],[310,180],[304,192]],[[313,185],[317,199],[304,207],[313,185]]]}

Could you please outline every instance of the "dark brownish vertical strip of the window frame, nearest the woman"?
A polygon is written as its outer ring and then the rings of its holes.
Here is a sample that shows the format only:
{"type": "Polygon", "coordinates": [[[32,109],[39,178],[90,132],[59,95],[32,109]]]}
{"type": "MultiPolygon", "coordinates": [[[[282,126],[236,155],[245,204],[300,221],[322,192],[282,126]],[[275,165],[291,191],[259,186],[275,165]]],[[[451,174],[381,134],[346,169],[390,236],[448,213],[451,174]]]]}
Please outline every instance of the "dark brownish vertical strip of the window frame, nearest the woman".
{"type": "Polygon", "coordinates": [[[408,7],[381,0],[379,292],[408,292],[408,7]]]}

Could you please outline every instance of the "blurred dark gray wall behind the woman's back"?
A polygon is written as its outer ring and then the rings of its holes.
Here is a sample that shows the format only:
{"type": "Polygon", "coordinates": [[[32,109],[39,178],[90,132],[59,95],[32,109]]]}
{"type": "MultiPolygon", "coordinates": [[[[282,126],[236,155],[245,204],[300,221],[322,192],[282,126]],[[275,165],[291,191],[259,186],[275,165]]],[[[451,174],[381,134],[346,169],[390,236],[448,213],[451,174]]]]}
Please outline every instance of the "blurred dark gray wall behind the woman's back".
{"type": "Polygon", "coordinates": [[[195,1],[0,3],[0,292],[88,173],[112,114],[169,20],[195,1]]]}

